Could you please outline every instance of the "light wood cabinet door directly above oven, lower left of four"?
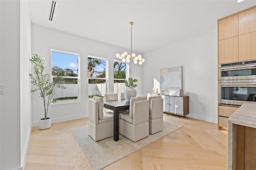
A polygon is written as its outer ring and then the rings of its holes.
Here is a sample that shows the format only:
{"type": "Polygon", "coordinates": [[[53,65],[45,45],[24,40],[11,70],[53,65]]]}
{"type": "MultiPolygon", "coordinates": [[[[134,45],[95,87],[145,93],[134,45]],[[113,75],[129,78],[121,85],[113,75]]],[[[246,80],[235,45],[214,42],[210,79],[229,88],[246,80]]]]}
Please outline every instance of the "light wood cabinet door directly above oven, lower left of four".
{"type": "Polygon", "coordinates": [[[218,62],[238,61],[238,36],[218,41],[218,62]]]}

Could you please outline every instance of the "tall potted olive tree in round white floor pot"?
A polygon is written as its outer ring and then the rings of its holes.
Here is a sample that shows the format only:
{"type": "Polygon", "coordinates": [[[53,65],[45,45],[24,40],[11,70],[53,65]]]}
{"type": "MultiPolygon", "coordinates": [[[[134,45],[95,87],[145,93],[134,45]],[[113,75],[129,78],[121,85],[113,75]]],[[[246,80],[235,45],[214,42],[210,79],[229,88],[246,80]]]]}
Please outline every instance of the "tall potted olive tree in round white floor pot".
{"type": "Polygon", "coordinates": [[[64,79],[57,74],[53,81],[51,81],[50,74],[44,73],[44,61],[38,54],[34,54],[30,61],[34,65],[32,74],[29,74],[31,83],[34,85],[34,89],[31,89],[31,92],[39,91],[39,96],[44,103],[44,118],[39,120],[39,129],[50,128],[52,123],[51,118],[47,117],[48,106],[51,102],[54,102],[52,99],[55,87],[66,89],[64,86],[64,79]]]}

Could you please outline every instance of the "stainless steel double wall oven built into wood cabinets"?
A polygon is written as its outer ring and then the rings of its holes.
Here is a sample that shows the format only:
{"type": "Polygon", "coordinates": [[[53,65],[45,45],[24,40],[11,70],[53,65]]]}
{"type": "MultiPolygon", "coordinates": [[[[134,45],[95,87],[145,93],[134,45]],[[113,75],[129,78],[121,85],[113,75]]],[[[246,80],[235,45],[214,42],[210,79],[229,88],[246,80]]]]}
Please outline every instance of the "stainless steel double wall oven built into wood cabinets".
{"type": "Polygon", "coordinates": [[[256,102],[256,60],[219,64],[219,104],[256,102]]]}

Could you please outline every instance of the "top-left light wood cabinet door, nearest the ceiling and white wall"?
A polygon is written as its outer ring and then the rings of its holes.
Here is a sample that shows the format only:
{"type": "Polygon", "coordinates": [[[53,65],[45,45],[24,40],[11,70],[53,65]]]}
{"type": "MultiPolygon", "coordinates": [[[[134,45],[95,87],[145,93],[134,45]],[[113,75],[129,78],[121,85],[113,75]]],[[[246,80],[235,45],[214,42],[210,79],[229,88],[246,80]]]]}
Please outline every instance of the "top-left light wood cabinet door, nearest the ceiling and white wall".
{"type": "Polygon", "coordinates": [[[238,15],[218,21],[218,40],[238,36],[238,15]]]}

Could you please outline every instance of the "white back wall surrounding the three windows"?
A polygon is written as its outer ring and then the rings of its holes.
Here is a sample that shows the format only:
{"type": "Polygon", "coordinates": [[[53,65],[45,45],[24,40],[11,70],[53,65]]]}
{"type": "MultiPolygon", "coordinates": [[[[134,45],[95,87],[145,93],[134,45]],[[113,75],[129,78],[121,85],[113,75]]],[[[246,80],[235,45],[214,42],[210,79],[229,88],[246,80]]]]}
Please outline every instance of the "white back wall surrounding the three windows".
{"type": "MultiPolygon", "coordinates": [[[[74,28],[75,29],[75,28],[74,28]]],[[[108,93],[113,93],[114,60],[116,53],[129,51],[113,45],[108,45],[94,40],[81,38],[72,34],[59,32],[32,24],[32,54],[38,53],[43,59],[46,70],[50,73],[50,50],[57,49],[80,54],[80,103],[69,103],[60,105],[50,105],[48,117],[52,117],[52,123],[68,121],[88,116],[88,79],[87,79],[87,57],[95,56],[107,58],[109,61],[109,83],[108,93]]],[[[134,51],[135,52],[135,51],[134,51]]],[[[139,54],[139,53],[136,53],[139,54]]],[[[139,80],[137,95],[142,95],[142,65],[129,64],[130,77],[139,80]]],[[[42,99],[38,93],[32,93],[32,122],[33,126],[38,126],[38,121],[44,116],[42,99]]]]}

